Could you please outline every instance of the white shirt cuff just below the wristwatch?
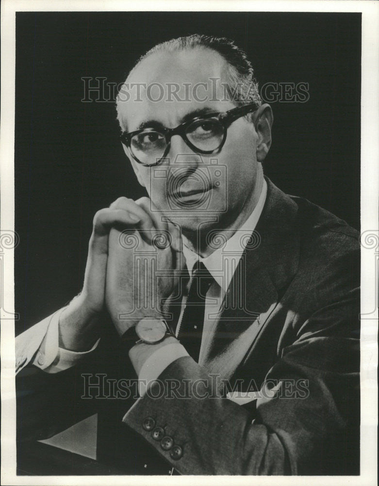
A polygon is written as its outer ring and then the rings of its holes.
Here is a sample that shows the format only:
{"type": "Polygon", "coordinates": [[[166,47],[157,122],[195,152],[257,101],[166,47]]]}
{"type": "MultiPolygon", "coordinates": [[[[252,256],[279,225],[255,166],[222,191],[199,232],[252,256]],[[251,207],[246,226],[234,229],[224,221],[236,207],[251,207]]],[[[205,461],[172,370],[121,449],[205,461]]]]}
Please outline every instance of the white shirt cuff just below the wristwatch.
{"type": "Polygon", "coordinates": [[[138,392],[141,397],[148,391],[152,382],[175,360],[189,356],[180,343],[167,344],[154,351],[142,365],[138,376],[138,392]]]}

